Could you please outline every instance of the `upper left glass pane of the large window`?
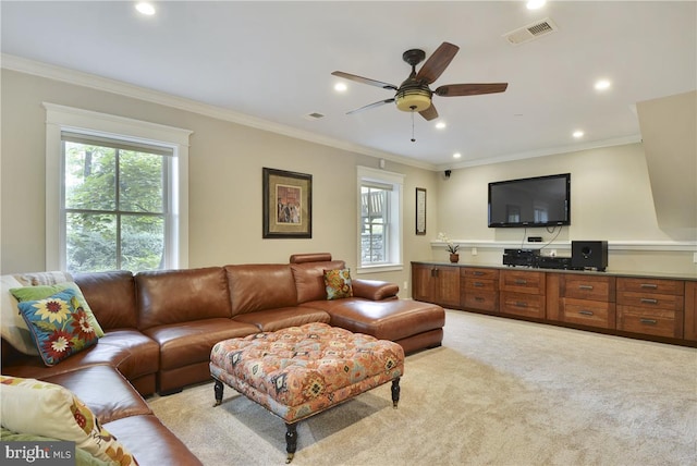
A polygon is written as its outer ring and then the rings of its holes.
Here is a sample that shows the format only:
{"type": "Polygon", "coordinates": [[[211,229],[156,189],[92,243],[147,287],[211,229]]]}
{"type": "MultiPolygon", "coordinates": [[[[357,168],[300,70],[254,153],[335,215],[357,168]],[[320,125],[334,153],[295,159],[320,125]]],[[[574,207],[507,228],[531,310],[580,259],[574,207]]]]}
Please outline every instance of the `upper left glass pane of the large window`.
{"type": "Polygon", "coordinates": [[[65,207],[114,210],[115,150],[65,142],[65,207]]]}

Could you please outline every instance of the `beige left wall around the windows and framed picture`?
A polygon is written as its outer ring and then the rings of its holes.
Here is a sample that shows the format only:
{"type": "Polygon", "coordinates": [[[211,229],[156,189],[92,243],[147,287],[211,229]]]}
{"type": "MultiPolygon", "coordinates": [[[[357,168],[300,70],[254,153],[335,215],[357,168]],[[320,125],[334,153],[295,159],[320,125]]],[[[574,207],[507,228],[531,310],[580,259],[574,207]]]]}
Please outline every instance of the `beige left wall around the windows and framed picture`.
{"type": "MultiPolygon", "coordinates": [[[[378,159],[255,130],[197,113],[2,70],[2,273],[45,269],[45,110],[42,101],[194,131],[189,148],[189,267],[285,262],[294,253],[329,252],[355,270],[356,167],[378,159]],[[313,238],[261,238],[261,168],[313,175],[313,238]]],[[[387,161],[405,174],[402,272],[364,278],[409,280],[408,262],[430,254],[414,234],[415,188],[425,187],[436,224],[435,172],[387,161]]],[[[405,293],[403,293],[405,294],[405,293]]]]}

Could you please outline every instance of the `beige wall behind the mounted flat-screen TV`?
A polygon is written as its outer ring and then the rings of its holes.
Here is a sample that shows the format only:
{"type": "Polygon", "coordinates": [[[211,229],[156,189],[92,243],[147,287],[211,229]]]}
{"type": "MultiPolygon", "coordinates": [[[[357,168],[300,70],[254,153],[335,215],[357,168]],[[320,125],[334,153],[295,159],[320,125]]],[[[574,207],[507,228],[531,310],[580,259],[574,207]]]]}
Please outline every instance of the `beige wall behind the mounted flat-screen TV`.
{"type": "MultiPolygon", "coordinates": [[[[692,201],[685,199],[685,206],[692,201]]],[[[453,170],[449,180],[439,180],[438,217],[439,228],[449,237],[465,242],[461,260],[466,262],[501,263],[501,243],[506,247],[539,247],[539,243],[527,243],[526,237],[542,236],[543,242],[555,237],[547,249],[557,249],[559,256],[571,255],[570,241],[607,240],[611,270],[697,272],[694,252],[689,250],[697,240],[697,225],[678,234],[660,228],[643,144],[453,170]],[[555,173],[571,173],[572,185],[572,224],[559,236],[559,230],[551,233],[545,228],[525,232],[487,226],[489,182],[555,173]],[[494,244],[489,247],[491,242],[494,244]],[[472,247],[477,248],[476,256],[472,247]]],[[[442,248],[433,254],[445,260],[442,248]]]]}

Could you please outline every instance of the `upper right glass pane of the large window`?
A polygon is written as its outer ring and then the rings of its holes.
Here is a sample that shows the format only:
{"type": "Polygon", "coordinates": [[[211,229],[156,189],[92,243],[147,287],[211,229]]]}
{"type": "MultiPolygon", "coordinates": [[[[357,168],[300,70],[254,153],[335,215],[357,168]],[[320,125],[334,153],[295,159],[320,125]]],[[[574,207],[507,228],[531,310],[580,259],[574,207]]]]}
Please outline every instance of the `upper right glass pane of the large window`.
{"type": "Polygon", "coordinates": [[[119,154],[119,210],[163,212],[164,157],[121,150],[119,154]]]}

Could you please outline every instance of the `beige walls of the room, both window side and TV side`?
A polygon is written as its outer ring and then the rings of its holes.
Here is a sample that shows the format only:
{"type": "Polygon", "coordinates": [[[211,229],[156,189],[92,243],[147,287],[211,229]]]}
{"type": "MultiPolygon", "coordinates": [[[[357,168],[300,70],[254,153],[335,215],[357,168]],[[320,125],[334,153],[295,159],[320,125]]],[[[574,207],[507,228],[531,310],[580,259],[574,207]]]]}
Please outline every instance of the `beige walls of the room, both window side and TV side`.
{"type": "MultiPolygon", "coordinates": [[[[372,157],[295,139],[107,91],[2,70],[0,161],[0,272],[45,269],[45,110],[42,101],[194,131],[189,149],[189,267],[285,262],[293,253],[330,252],[356,267],[356,182],[359,164],[372,157]],[[311,240],[261,238],[261,168],[310,173],[314,177],[311,240]]],[[[560,241],[673,242],[656,222],[640,145],[587,150],[518,162],[441,172],[390,160],[387,170],[405,174],[404,263],[401,272],[367,275],[404,286],[411,260],[444,258],[432,248],[439,231],[466,241],[519,241],[522,230],[486,226],[486,186],[547,173],[572,173],[573,225],[560,241]],[[415,188],[427,189],[427,235],[416,236],[415,188]]],[[[528,232],[530,234],[533,232],[528,232]]],[[[539,233],[546,238],[549,234],[539,233]]],[[[694,240],[694,237],[692,238],[694,240]]],[[[464,252],[465,253],[465,252],[464,252]]],[[[463,260],[500,263],[501,248],[481,248],[463,260]]],[[[697,271],[692,253],[617,252],[619,266],[697,271]],[[638,256],[637,256],[638,254],[638,256]],[[638,258],[637,258],[638,257],[638,258]]],[[[612,259],[611,259],[612,267],[612,259]]],[[[615,267],[621,268],[621,267],[615,267]]],[[[402,292],[403,296],[408,292],[402,292]]]]}

